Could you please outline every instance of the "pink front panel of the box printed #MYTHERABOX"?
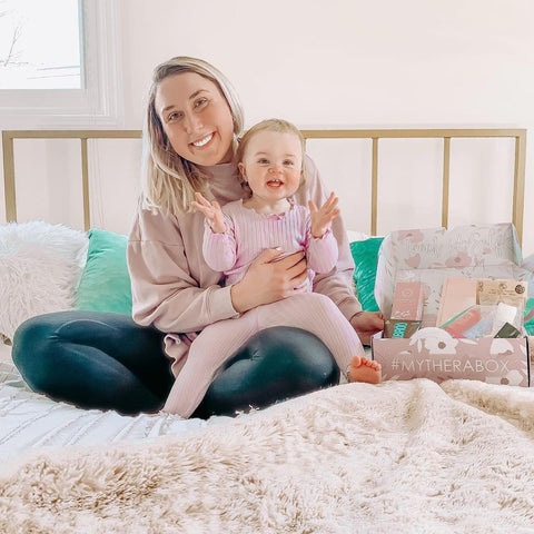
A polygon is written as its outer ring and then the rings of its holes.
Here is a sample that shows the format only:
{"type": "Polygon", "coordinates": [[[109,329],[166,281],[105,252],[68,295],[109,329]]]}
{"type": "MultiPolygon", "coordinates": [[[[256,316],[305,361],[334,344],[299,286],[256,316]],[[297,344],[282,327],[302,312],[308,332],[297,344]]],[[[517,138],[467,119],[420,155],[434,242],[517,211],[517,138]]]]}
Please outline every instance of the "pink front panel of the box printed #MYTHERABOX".
{"type": "Polygon", "coordinates": [[[526,337],[454,338],[442,328],[422,328],[411,338],[372,340],[373,359],[382,365],[383,380],[463,378],[511,386],[530,385],[526,337]]]}

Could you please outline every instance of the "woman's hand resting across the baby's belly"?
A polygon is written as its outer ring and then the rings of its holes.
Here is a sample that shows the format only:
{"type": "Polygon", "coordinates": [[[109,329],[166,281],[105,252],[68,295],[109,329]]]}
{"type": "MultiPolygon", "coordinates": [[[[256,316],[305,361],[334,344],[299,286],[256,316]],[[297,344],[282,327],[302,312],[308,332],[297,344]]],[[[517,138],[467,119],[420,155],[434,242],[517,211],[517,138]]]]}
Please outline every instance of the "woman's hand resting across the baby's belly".
{"type": "Polygon", "coordinates": [[[304,251],[276,260],[281,250],[268,248],[251,264],[243,280],[231,286],[231,304],[238,313],[275,303],[304,290],[308,271],[304,251]]]}

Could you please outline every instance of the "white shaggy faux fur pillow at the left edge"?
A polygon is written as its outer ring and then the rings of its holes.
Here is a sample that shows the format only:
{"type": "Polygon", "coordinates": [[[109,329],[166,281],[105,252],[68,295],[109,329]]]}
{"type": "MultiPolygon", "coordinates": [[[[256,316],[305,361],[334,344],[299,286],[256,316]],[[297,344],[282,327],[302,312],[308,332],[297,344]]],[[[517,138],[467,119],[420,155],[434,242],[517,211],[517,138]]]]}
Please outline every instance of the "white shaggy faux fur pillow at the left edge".
{"type": "Polygon", "coordinates": [[[43,221],[0,226],[0,334],[36,315],[70,309],[87,254],[83,231],[43,221]]]}

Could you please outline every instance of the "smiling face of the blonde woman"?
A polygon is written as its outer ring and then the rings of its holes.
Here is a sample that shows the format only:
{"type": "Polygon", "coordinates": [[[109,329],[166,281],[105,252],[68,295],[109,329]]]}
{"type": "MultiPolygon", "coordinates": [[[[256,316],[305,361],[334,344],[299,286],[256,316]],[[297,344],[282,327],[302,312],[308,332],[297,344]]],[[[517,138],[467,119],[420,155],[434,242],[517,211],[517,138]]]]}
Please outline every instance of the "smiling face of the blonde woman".
{"type": "Polygon", "coordinates": [[[156,112],[175,151],[194,164],[231,161],[234,119],[219,88],[196,72],[162,80],[156,90],[156,112]]]}

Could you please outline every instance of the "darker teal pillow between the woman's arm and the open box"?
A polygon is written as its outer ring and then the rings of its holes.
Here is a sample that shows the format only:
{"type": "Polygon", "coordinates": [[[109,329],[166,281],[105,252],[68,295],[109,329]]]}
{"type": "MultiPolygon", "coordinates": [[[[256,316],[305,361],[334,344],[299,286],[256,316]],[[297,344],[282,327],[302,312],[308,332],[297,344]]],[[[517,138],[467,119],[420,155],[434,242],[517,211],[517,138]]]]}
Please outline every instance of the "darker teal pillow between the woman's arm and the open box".
{"type": "Polygon", "coordinates": [[[354,281],[362,308],[367,312],[379,312],[375,300],[375,278],[378,249],[383,240],[383,237],[369,237],[350,244],[350,253],[356,266],[354,281]]]}

